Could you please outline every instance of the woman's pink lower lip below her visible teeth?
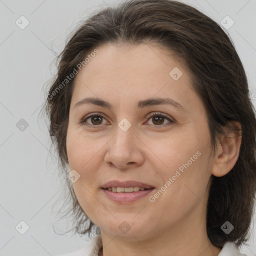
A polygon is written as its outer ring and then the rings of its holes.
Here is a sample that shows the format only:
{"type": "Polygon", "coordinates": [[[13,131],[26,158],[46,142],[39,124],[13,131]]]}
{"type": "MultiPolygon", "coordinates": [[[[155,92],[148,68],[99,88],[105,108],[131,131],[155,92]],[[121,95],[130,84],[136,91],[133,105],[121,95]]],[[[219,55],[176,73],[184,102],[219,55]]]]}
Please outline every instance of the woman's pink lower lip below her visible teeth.
{"type": "Polygon", "coordinates": [[[107,189],[104,189],[104,188],[101,188],[101,189],[109,199],[115,202],[132,202],[149,194],[154,189],[154,187],[146,190],[139,190],[136,192],[129,192],[129,193],[125,193],[125,192],[118,193],[118,192],[108,191],[107,189]]]}

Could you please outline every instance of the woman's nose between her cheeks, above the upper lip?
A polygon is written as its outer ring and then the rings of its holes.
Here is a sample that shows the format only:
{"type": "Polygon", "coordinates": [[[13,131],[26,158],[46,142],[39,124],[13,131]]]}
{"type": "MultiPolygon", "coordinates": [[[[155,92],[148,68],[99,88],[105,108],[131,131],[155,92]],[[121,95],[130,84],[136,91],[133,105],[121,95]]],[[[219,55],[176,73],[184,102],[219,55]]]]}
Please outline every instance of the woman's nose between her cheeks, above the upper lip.
{"type": "Polygon", "coordinates": [[[116,133],[107,143],[108,149],[104,157],[107,164],[116,166],[119,169],[126,169],[139,166],[144,161],[143,143],[129,128],[123,131],[118,126],[116,133]]]}

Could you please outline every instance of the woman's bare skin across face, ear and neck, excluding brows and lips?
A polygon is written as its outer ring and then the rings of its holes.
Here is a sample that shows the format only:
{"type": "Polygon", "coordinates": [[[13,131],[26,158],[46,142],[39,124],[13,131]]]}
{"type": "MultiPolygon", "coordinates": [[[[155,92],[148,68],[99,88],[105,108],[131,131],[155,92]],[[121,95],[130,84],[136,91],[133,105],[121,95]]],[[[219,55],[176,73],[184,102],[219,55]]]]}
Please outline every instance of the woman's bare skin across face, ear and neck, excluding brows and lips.
{"type": "Polygon", "coordinates": [[[218,255],[221,248],[213,246],[206,233],[209,179],[231,170],[241,137],[230,133],[218,144],[216,155],[211,154],[206,110],[192,89],[188,70],[170,51],[152,43],[97,49],[75,77],[66,147],[70,170],[80,175],[73,183],[77,199],[101,230],[99,255],[218,255]],[[169,75],[174,67],[183,73],[177,80],[169,75]],[[113,108],[73,108],[84,97],[101,98],[113,108]],[[185,111],[167,104],[135,107],[138,100],[152,97],[169,97],[185,111]],[[173,122],[157,122],[154,111],[173,122]],[[90,117],[81,124],[89,113],[100,114],[102,120],[90,117]],[[123,118],[131,124],[126,131],[118,126],[123,118]],[[197,151],[197,159],[149,201],[197,151]],[[137,180],[155,189],[134,202],[118,203],[101,189],[113,179],[137,180]],[[130,227],[126,233],[118,228],[123,221],[130,227]]]}

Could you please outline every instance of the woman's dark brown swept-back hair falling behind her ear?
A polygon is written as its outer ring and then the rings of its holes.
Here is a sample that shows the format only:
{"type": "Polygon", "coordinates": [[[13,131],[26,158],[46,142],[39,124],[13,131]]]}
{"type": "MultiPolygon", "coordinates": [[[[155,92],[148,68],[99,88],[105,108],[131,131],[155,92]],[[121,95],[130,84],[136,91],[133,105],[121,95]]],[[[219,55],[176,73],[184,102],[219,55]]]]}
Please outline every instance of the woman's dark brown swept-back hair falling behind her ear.
{"type": "MultiPolygon", "coordinates": [[[[248,240],[256,188],[256,119],[247,78],[227,33],[194,7],[171,0],[128,0],[115,8],[99,10],[73,32],[58,56],[57,75],[49,88],[45,110],[59,163],[66,171],[63,173],[72,202],[70,212],[75,232],[90,235],[96,226],[83,212],[72,183],[66,177],[69,171],[66,133],[74,79],[64,85],[63,81],[100,45],[145,42],[159,43],[184,60],[191,73],[192,86],[207,111],[214,153],[217,137],[223,134],[228,121],[236,120],[241,124],[238,160],[226,175],[211,175],[206,216],[207,234],[213,245],[222,247],[225,242],[234,241],[240,246],[248,240]],[[63,86],[59,86],[61,83],[63,86]],[[229,234],[220,228],[226,220],[234,226],[229,234]]],[[[66,201],[65,198],[65,204],[66,201]]]]}

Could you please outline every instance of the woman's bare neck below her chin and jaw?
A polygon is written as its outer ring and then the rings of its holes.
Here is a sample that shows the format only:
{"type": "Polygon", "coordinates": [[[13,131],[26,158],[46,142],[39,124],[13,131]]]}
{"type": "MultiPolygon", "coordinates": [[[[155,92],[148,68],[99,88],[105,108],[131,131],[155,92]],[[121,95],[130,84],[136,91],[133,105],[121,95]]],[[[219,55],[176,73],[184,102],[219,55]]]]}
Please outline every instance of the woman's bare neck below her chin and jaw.
{"type": "Polygon", "coordinates": [[[215,247],[207,236],[205,213],[202,218],[196,217],[196,214],[198,211],[195,210],[186,219],[180,219],[175,226],[166,226],[146,238],[139,235],[113,236],[101,229],[103,251],[99,256],[217,256],[221,249],[215,247]]]}

